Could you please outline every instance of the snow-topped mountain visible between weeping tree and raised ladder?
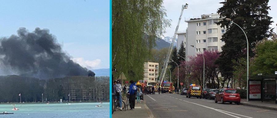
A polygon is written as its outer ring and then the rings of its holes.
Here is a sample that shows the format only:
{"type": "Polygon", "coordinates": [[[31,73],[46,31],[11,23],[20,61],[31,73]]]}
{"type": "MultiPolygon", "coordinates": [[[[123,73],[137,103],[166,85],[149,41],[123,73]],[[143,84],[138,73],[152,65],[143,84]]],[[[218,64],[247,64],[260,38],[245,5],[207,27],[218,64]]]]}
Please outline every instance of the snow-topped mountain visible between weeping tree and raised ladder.
{"type": "MultiPolygon", "coordinates": [[[[164,39],[161,39],[161,38],[157,38],[156,40],[156,47],[154,47],[155,49],[163,49],[165,47],[169,47],[170,44],[172,43],[172,37],[164,37],[164,39]]],[[[177,45],[177,38],[175,39],[174,43],[173,43],[173,46],[176,46],[177,45]]]]}

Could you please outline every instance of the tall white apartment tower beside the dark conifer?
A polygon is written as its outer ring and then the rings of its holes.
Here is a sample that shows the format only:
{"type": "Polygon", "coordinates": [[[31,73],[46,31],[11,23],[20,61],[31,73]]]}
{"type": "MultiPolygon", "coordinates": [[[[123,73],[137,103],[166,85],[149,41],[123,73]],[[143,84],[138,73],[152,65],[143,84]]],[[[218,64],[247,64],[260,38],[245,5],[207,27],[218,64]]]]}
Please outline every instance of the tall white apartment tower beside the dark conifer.
{"type": "MultiPolygon", "coordinates": [[[[220,40],[225,29],[218,26],[215,22],[219,22],[223,18],[219,18],[219,14],[203,14],[201,18],[191,18],[185,22],[188,23],[186,32],[177,33],[178,42],[180,45],[182,42],[179,41],[180,37],[186,35],[186,57],[196,55],[200,51],[205,50],[218,50],[221,51],[221,47],[225,44],[224,41],[220,40]],[[180,43],[179,43],[180,42],[180,43]],[[191,47],[194,45],[194,47],[191,47]]],[[[186,60],[189,60],[188,58],[186,60]]]]}

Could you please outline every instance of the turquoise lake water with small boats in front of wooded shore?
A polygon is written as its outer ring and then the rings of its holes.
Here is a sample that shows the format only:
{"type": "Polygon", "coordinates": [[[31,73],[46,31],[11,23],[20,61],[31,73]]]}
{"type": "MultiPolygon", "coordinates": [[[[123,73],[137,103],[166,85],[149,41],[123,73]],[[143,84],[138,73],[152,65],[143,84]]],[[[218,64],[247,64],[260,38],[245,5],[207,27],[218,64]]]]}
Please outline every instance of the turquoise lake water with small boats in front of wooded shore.
{"type": "Polygon", "coordinates": [[[110,103],[53,103],[53,104],[16,104],[18,111],[13,111],[11,104],[0,104],[1,118],[109,118],[110,103]],[[21,107],[20,107],[21,105],[21,107]],[[95,107],[101,105],[102,107],[95,107]]]}

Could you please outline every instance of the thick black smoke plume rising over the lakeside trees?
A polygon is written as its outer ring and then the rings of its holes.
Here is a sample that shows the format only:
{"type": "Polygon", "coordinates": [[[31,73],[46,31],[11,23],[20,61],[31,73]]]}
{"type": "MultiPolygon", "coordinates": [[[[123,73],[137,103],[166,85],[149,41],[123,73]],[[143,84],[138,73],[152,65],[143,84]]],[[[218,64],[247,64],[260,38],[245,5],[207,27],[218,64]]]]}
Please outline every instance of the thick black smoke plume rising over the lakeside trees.
{"type": "Polygon", "coordinates": [[[28,32],[19,28],[18,36],[0,39],[0,74],[40,79],[88,74],[86,68],[66,55],[47,29],[28,32]]]}

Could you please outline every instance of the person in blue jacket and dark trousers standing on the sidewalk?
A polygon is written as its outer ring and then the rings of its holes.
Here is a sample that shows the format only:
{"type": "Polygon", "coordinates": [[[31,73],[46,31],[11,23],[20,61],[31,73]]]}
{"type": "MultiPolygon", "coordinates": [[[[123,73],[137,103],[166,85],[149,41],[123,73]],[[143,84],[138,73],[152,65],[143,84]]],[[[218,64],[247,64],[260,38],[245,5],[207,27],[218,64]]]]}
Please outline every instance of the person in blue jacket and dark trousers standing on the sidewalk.
{"type": "Polygon", "coordinates": [[[131,110],[134,110],[135,101],[136,101],[136,94],[137,94],[137,86],[136,86],[136,83],[134,83],[133,80],[131,80],[130,83],[131,84],[129,86],[129,92],[128,92],[128,94],[130,95],[129,102],[130,102],[131,110]]]}

